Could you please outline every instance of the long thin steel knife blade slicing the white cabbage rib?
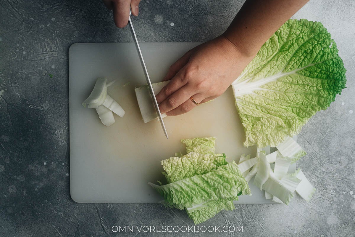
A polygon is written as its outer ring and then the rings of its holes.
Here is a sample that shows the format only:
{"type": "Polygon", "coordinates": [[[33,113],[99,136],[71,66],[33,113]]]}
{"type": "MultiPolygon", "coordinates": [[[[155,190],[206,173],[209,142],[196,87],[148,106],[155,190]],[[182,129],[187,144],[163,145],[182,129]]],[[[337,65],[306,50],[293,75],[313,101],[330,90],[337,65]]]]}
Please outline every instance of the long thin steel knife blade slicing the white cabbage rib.
{"type": "Polygon", "coordinates": [[[163,121],[163,118],[162,118],[162,113],[160,113],[160,109],[159,109],[159,106],[158,106],[157,98],[155,97],[155,93],[154,93],[154,90],[153,90],[152,82],[151,82],[151,79],[149,78],[149,74],[148,74],[148,70],[147,70],[146,64],[144,63],[142,51],[141,51],[141,48],[139,47],[139,43],[138,43],[138,40],[137,40],[136,32],[135,32],[135,30],[133,28],[133,24],[132,24],[132,20],[131,20],[131,9],[130,9],[130,16],[129,16],[129,25],[130,25],[131,32],[132,32],[133,41],[135,42],[135,45],[136,45],[138,56],[139,56],[139,59],[141,61],[141,65],[142,65],[142,68],[143,68],[144,76],[146,76],[146,81],[147,81],[147,85],[148,85],[148,88],[149,88],[149,92],[151,93],[151,96],[152,96],[152,99],[153,99],[155,111],[157,111],[157,114],[158,114],[158,117],[159,117],[159,120],[160,120],[160,124],[162,125],[164,134],[165,134],[166,138],[169,139],[169,136],[168,136],[168,133],[166,132],[165,124],[164,124],[164,121],[163,121]]]}

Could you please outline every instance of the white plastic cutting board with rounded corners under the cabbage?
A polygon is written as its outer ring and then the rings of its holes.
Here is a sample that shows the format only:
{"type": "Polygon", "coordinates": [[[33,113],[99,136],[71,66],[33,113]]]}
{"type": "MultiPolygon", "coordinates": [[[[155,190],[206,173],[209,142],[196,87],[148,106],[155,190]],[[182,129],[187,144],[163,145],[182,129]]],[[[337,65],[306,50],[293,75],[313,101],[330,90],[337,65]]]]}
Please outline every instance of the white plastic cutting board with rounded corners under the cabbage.
{"type": "MultiPolygon", "coordinates": [[[[159,82],[169,66],[199,43],[141,43],[152,82],[159,82]]],[[[243,154],[256,155],[245,140],[229,88],[214,101],[189,113],[164,118],[169,139],[159,122],[144,124],[134,88],[145,79],[133,43],[76,43],[69,49],[70,190],[81,203],[151,203],[162,198],[147,183],[164,181],[160,160],[184,152],[182,138],[217,137],[216,153],[231,161],[243,154]],[[123,118],[104,126],[95,109],[81,103],[97,77],[116,80],[108,94],[126,111],[123,118]],[[129,85],[124,86],[127,82],[129,85]]],[[[250,182],[252,196],[237,203],[271,203],[250,182]]]]}

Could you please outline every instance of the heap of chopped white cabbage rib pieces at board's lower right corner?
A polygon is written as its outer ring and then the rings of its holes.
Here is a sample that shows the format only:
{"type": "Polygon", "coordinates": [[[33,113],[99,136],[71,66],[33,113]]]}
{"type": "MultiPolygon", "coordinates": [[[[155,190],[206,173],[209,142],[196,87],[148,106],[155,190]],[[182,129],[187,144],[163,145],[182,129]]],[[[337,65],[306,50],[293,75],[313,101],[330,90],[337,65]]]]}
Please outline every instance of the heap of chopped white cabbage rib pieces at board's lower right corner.
{"type": "MultiPolygon", "coordinates": [[[[247,169],[243,173],[247,182],[255,176],[254,184],[265,191],[265,199],[272,199],[276,203],[284,203],[288,205],[296,191],[302,198],[309,201],[315,192],[313,186],[306,179],[302,171],[299,169],[295,173],[288,173],[290,164],[305,155],[305,151],[292,138],[287,138],[285,142],[278,146],[277,151],[268,155],[261,149],[258,149],[257,157],[260,161],[253,165],[249,172],[250,165],[253,159],[248,159],[250,156],[242,155],[238,164],[242,170],[247,169]],[[292,157],[284,156],[290,155],[292,157]],[[274,170],[271,169],[271,163],[274,164],[274,170]],[[242,166],[244,164],[244,166],[242,166]]],[[[253,161],[255,162],[255,160],[253,161]]]]}

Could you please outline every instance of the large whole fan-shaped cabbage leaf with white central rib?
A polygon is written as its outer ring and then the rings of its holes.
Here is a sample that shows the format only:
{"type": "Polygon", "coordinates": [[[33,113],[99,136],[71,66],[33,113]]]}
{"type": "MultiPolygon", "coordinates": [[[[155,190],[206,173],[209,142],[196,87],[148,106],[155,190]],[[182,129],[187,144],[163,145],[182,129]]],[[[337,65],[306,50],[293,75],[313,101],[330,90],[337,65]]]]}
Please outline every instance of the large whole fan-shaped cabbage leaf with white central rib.
{"type": "Polygon", "coordinates": [[[320,22],[288,20],[233,82],[244,146],[277,146],[345,88],[337,45],[320,22]]]}

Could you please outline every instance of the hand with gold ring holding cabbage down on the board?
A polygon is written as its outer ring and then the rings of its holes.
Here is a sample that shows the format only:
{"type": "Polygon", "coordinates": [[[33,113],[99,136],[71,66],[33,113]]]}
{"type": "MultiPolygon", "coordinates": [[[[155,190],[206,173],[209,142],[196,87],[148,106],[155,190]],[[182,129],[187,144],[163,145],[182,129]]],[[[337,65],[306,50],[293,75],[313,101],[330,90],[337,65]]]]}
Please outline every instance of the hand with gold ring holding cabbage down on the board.
{"type": "Polygon", "coordinates": [[[168,116],[189,112],[197,105],[222,95],[253,59],[223,35],[191,49],[171,65],[157,94],[161,113],[168,116]]]}

